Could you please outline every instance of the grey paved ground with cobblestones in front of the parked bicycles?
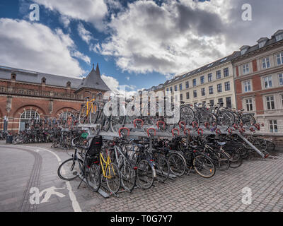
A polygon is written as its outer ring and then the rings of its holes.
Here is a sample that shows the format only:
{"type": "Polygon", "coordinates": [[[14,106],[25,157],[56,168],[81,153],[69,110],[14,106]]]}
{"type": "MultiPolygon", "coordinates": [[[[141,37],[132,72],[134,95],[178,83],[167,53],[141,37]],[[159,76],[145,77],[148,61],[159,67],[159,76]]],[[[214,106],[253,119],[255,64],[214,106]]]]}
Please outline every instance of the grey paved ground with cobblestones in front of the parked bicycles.
{"type": "Polygon", "coordinates": [[[78,210],[76,203],[79,210],[97,212],[283,210],[283,153],[278,153],[277,159],[255,157],[237,169],[217,171],[210,179],[191,172],[166,183],[156,182],[149,190],[122,192],[118,198],[103,198],[85,184],[77,189],[79,179],[69,182],[70,186],[60,180],[57,168],[67,158],[65,151],[51,149],[50,144],[0,143],[0,211],[74,211],[78,210]],[[40,148],[52,150],[57,157],[40,148]],[[64,197],[51,196],[49,202],[30,205],[28,189],[33,186],[40,191],[54,186],[64,197]],[[251,189],[250,205],[242,203],[244,187],[251,189]]]}

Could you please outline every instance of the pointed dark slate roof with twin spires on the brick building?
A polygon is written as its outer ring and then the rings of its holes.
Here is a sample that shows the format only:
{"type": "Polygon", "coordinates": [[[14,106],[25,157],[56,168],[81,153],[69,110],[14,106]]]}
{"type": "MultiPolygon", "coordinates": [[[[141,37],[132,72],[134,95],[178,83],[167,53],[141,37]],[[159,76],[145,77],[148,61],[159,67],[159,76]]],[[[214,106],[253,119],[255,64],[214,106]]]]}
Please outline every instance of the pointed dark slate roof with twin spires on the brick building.
{"type": "Polygon", "coordinates": [[[91,88],[96,90],[105,90],[110,91],[110,88],[105,84],[105,82],[100,77],[100,71],[98,65],[96,66],[96,70],[93,69],[91,72],[86,76],[86,78],[81,81],[81,84],[77,88],[76,91],[81,90],[81,88],[91,88]]]}

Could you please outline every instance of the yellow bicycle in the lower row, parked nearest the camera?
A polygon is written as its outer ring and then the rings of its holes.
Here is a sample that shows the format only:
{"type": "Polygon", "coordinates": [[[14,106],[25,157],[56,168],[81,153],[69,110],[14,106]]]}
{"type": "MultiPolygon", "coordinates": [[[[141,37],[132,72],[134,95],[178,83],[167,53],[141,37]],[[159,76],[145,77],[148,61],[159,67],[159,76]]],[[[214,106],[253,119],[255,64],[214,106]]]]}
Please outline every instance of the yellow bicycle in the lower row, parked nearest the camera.
{"type": "Polygon", "coordinates": [[[111,161],[111,158],[108,155],[108,150],[100,152],[99,159],[102,174],[106,180],[108,189],[112,192],[112,194],[116,194],[119,191],[121,185],[119,168],[115,163],[111,161]]]}

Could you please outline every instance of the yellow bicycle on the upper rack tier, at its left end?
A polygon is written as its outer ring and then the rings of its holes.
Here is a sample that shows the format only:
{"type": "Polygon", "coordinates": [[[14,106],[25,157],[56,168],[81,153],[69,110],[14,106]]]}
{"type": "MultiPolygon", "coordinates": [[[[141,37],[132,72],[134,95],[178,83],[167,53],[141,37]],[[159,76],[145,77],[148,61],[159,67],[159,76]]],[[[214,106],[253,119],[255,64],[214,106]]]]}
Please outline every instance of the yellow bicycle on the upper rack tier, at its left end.
{"type": "Polygon", "coordinates": [[[96,102],[96,98],[89,100],[89,97],[86,97],[86,104],[81,105],[79,112],[79,123],[95,124],[98,119],[98,109],[99,105],[98,102],[96,102]]]}

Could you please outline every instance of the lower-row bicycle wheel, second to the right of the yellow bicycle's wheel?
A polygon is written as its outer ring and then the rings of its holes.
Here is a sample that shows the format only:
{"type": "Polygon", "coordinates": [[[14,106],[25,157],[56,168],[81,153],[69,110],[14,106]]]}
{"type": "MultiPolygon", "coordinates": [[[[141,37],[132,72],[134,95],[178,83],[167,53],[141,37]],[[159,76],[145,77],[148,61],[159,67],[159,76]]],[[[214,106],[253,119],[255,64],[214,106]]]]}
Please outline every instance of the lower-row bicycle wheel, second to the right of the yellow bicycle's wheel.
{"type": "Polygon", "coordinates": [[[141,189],[149,189],[154,184],[154,170],[147,160],[137,165],[137,184],[141,189]]]}

